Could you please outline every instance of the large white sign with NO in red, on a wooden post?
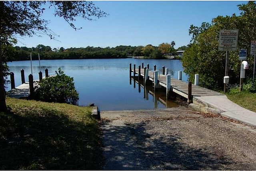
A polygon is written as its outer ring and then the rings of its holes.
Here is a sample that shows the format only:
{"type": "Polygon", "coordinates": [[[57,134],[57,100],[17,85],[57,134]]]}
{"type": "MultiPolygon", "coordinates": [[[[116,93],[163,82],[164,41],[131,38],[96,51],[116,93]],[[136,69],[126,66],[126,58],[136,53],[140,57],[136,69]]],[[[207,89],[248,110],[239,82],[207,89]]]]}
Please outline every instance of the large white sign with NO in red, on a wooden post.
{"type": "Polygon", "coordinates": [[[236,51],[238,30],[220,30],[219,51],[236,51]]]}

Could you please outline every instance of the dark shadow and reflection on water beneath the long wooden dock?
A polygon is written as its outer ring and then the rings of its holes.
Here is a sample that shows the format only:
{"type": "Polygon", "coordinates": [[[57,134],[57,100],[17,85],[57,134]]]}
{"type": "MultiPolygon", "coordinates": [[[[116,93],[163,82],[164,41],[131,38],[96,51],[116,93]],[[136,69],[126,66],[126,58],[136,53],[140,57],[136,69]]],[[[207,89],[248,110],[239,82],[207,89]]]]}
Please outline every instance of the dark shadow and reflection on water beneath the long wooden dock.
{"type": "Polygon", "coordinates": [[[166,89],[164,88],[154,89],[151,83],[147,83],[146,85],[144,85],[143,78],[139,78],[138,76],[130,77],[130,85],[132,85],[132,80],[133,80],[134,89],[136,88],[136,85],[137,85],[138,92],[140,93],[141,91],[143,91],[143,94],[144,94],[143,98],[145,100],[149,100],[149,95],[153,97],[154,109],[158,108],[159,103],[162,103],[166,108],[179,106],[173,99],[167,99],[166,89]]]}

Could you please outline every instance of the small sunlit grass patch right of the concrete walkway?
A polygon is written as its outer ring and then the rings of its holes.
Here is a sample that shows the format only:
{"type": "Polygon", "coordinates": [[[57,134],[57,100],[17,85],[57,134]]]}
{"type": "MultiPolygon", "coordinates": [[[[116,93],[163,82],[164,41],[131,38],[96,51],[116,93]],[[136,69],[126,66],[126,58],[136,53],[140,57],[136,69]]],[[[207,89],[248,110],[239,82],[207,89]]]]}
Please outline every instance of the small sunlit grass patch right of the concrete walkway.
{"type": "Polygon", "coordinates": [[[256,112],[256,93],[247,90],[239,92],[239,89],[231,89],[226,93],[226,96],[234,103],[256,112]]]}

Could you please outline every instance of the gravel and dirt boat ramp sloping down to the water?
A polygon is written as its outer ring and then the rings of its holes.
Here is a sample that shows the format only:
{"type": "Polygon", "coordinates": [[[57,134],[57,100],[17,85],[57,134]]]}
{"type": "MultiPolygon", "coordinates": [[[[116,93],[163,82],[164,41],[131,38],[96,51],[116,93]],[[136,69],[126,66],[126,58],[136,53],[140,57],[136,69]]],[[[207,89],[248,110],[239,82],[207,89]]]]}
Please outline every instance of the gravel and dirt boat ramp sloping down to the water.
{"type": "Polygon", "coordinates": [[[256,170],[256,129],[185,107],[101,112],[104,170],[256,170]]]}

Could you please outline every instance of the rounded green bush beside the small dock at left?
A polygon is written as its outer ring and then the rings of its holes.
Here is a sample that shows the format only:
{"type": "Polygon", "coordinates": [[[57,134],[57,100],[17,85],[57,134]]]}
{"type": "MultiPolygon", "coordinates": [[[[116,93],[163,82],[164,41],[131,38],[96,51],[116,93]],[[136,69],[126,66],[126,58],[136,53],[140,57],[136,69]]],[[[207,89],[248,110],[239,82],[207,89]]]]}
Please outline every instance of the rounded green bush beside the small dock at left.
{"type": "Polygon", "coordinates": [[[34,98],[41,101],[78,105],[78,93],[73,78],[66,76],[59,68],[56,76],[50,76],[38,82],[34,98]]]}

